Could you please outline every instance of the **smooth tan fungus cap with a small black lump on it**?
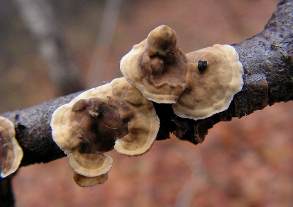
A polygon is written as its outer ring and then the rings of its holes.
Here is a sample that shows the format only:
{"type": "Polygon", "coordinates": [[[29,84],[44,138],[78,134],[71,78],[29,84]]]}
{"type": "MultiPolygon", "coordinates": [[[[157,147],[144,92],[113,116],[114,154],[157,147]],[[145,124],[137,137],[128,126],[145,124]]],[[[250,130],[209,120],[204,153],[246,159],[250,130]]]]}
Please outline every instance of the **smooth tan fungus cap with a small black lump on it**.
{"type": "Polygon", "coordinates": [[[186,89],[173,104],[174,113],[197,120],[228,109],[243,87],[243,66],[235,49],[214,45],[186,55],[186,89]]]}

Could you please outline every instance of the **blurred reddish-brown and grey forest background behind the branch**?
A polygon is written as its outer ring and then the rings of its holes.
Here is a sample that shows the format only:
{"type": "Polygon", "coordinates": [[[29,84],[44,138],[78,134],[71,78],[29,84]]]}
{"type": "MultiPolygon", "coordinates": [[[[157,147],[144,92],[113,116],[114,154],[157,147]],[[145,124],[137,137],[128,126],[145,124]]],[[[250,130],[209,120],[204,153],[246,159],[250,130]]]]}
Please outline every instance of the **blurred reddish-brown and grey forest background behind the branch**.
{"type": "MultiPolygon", "coordinates": [[[[121,57],[165,24],[191,52],[261,32],[278,0],[0,1],[0,113],[122,76],[121,57]]],[[[116,151],[108,180],[80,188],[66,158],[22,167],[16,206],[292,206],[293,104],[218,123],[197,146],[116,151]]]]}

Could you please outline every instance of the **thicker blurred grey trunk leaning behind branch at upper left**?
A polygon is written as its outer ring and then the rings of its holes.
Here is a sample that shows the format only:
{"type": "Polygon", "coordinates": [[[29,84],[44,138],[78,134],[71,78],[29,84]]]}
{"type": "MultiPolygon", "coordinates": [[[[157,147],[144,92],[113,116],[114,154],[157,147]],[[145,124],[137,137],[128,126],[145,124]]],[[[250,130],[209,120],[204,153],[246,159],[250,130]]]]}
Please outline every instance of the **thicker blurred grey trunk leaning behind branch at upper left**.
{"type": "Polygon", "coordinates": [[[78,67],[65,46],[62,28],[47,0],[14,0],[47,61],[48,75],[59,95],[83,90],[78,67]]]}

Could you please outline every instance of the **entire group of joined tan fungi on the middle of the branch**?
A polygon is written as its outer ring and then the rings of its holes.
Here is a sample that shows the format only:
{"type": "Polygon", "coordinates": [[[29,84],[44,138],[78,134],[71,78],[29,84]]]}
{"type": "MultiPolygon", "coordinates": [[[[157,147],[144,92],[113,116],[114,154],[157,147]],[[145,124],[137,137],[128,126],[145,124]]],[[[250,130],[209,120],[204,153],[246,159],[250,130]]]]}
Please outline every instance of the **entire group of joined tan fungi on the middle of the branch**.
{"type": "Polygon", "coordinates": [[[177,116],[198,120],[225,111],[242,90],[243,66],[232,46],[185,54],[176,43],[170,27],[157,27],[122,57],[123,78],[85,91],[53,113],[53,140],[81,187],[106,181],[113,159],[105,152],[148,152],[160,125],[152,101],[170,103],[177,116]]]}

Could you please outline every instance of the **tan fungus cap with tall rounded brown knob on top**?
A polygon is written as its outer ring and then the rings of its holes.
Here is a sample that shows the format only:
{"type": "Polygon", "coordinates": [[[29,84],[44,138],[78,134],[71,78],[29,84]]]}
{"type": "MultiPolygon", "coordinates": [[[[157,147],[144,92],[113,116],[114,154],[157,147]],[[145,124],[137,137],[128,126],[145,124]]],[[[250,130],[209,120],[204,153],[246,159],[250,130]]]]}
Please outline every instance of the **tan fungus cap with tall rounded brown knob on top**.
{"type": "Polygon", "coordinates": [[[123,76],[149,100],[175,103],[185,89],[186,55],[176,43],[175,32],[162,25],[120,61],[123,76]]]}

